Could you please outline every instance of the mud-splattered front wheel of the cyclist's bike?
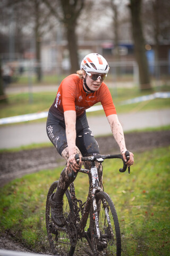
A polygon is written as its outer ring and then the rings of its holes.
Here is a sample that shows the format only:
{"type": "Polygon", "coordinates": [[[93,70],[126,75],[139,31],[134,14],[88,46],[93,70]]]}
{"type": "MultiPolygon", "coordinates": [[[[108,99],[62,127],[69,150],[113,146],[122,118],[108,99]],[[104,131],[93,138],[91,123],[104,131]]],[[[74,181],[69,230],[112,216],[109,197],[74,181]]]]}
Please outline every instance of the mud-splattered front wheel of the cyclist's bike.
{"type": "Polygon", "coordinates": [[[100,239],[97,236],[96,221],[92,210],[90,231],[93,252],[98,256],[121,256],[121,233],[114,203],[108,194],[100,191],[96,194],[96,204],[100,239]]]}

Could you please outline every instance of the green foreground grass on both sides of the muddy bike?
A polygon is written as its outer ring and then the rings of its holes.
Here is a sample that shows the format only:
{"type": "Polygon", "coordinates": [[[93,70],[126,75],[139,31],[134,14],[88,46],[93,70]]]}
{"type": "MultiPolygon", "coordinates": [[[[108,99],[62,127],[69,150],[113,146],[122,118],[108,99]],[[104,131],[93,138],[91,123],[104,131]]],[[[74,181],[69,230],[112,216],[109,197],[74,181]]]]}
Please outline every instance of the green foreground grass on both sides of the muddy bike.
{"type": "MultiPolygon", "coordinates": [[[[120,160],[104,162],[104,187],[115,203],[122,234],[122,256],[169,255],[170,147],[135,154],[131,174],[120,173],[120,160]]],[[[1,233],[37,252],[48,250],[45,203],[50,183],[62,167],[15,179],[0,189],[1,233]]],[[[79,174],[75,188],[80,199],[88,179],[79,174]]]]}

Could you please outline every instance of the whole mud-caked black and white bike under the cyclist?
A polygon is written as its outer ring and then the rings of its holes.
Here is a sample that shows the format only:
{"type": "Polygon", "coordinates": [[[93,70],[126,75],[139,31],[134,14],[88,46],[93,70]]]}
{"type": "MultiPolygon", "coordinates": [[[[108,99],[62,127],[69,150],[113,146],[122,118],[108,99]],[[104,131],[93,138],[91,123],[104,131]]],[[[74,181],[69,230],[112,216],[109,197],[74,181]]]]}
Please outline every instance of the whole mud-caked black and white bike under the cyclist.
{"type": "MultiPolygon", "coordinates": [[[[128,151],[126,151],[127,153],[128,151]]],[[[72,182],[70,184],[70,191],[66,191],[66,204],[65,204],[65,214],[66,214],[66,226],[65,227],[56,227],[56,225],[53,223],[52,217],[50,217],[50,205],[49,205],[49,196],[54,193],[57,182],[54,182],[52,186],[50,187],[47,195],[47,203],[46,203],[46,227],[47,227],[47,233],[48,233],[48,239],[50,247],[52,248],[53,252],[56,253],[58,250],[57,247],[55,249],[55,241],[57,242],[58,237],[61,239],[69,239],[70,242],[66,240],[64,242],[61,240],[61,245],[66,244],[70,247],[68,247],[69,255],[73,255],[75,246],[77,244],[78,239],[86,238],[89,246],[92,250],[92,252],[101,251],[106,249],[107,247],[107,241],[106,239],[111,239],[111,242],[114,241],[113,236],[113,226],[110,219],[110,212],[109,209],[111,209],[111,218],[114,220],[114,227],[117,227],[115,229],[116,234],[116,242],[118,241],[118,245],[116,245],[116,252],[117,255],[121,255],[121,235],[120,235],[120,228],[118,224],[117,215],[115,212],[114,204],[109,198],[109,196],[106,193],[103,193],[103,185],[99,182],[98,177],[98,168],[96,167],[96,163],[103,163],[104,159],[108,158],[121,158],[123,160],[122,155],[94,155],[94,156],[87,156],[87,157],[81,157],[82,162],[91,162],[91,168],[90,169],[80,169],[81,173],[88,174],[89,177],[89,193],[86,199],[86,202],[82,203],[81,200],[77,199],[75,196],[75,188],[74,183],[72,182]],[[99,194],[98,194],[99,193],[99,194]],[[71,197],[71,198],[70,198],[71,197]],[[69,206],[67,205],[69,203],[69,206]],[[105,219],[102,219],[103,221],[107,219],[107,229],[109,229],[108,232],[105,232],[105,229],[103,230],[103,226],[101,226],[101,230],[99,228],[99,217],[100,217],[100,203],[104,206],[105,213],[101,215],[101,219],[104,217],[105,219]],[[68,207],[67,207],[68,206],[68,207]],[[112,207],[111,207],[112,206],[112,207]],[[69,210],[69,211],[67,211],[69,210]],[[89,222],[89,228],[87,226],[88,217],[90,214],[90,222],[89,222]],[[116,225],[116,226],[115,226],[116,225]],[[87,231],[85,229],[88,228],[87,231]],[[94,230],[95,229],[95,230],[94,230]],[[61,231],[58,233],[58,231],[61,231]],[[62,234],[62,231],[64,234],[62,234]],[[66,234],[66,235],[65,235],[66,234]],[[105,239],[106,238],[106,239],[105,239]]],[[[75,155],[75,159],[77,162],[79,162],[79,155],[75,155]]],[[[128,158],[128,155],[126,156],[126,159],[128,158]]],[[[120,172],[125,172],[127,169],[127,165],[123,161],[123,168],[120,168],[120,172]]],[[[128,171],[130,173],[130,167],[128,167],[128,171]]],[[[100,173],[99,173],[100,174],[100,173]]],[[[70,174],[69,174],[70,175],[70,174]]],[[[74,172],[71,173],[70,177],[75,178],[74,172]]],[[[105,224],[104,224],[105,226],[105,224]]],[[[109,243],[109,241],[108,241],[109,243]]],[[[64,246],[64,245],[63,245],[64,246]]],[[[60,247],[60,246],[59,246],[60,247]]],[[[65,249],[63,247],[64,252],[65,249]]],[[[67,248],[66,248],[67,250],[67,248]]],[[[65,254],[64,254],[65,255],[65,254]]]]}

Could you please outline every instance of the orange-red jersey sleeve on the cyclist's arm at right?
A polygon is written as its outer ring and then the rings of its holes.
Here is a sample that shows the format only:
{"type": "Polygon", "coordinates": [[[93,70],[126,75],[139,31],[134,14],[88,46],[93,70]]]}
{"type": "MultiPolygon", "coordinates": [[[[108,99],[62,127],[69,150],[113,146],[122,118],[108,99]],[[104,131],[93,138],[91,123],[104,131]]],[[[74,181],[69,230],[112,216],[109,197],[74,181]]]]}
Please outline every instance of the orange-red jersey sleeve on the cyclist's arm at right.
{"type": "Polygon", "coordinates": [[[106,116],[116,114],[116,108],[113,103],[111,92],[104,83],[100,90],[100,102],[104,108],[106,116]]]}

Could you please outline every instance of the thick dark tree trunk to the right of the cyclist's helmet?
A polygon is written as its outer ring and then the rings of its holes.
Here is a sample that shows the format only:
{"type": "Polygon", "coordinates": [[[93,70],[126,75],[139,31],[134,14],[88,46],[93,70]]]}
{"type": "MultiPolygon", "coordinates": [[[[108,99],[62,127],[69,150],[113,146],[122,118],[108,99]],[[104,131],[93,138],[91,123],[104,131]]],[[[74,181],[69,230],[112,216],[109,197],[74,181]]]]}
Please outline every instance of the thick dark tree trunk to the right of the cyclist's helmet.
{"type": "Polygon", "coordinates": [[[142,23],[140,20],[141,0],[130,0],[132,34],[134,41],[135,58],[139,67],[139,79],[141,90],[151,90],[149,68],[145,50],[142,23]]]}

